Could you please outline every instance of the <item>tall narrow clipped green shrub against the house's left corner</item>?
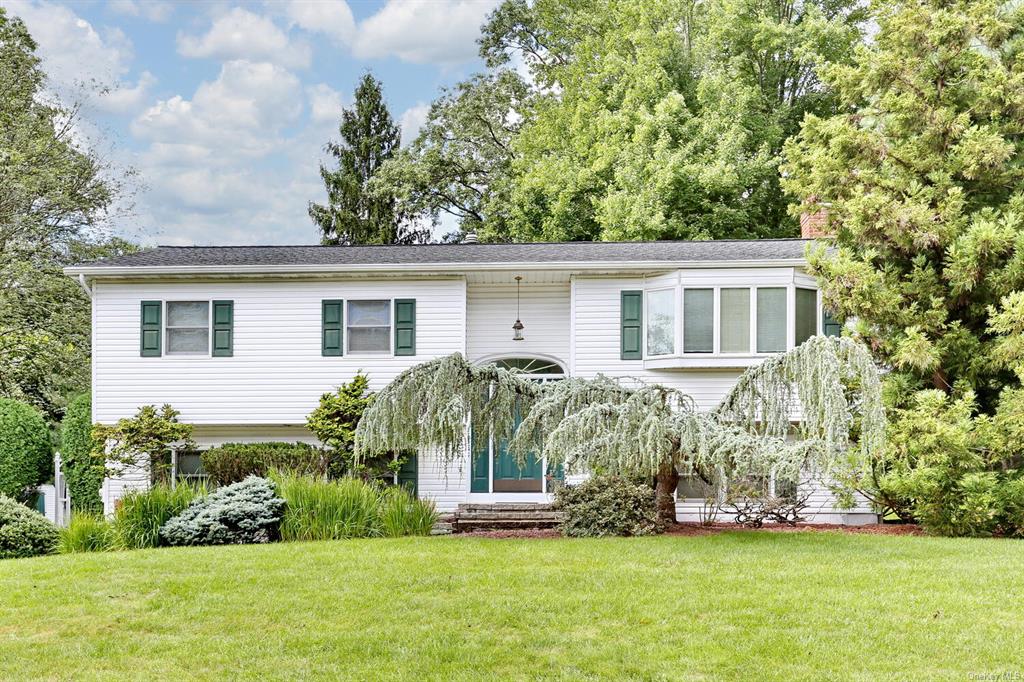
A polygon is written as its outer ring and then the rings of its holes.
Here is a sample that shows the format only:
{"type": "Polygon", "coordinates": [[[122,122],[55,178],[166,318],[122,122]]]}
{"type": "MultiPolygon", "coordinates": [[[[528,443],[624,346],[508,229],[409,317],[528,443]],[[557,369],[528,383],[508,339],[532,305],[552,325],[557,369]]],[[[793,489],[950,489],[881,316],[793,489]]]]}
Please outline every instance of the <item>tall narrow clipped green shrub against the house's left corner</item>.
{"type": "Polygon", "coordinates": [[[83,393],[71,401],[60,422],[60,463],[71,507],[86,514],[99,514],[103,502],[103,463],[92,454],[92,400],[83,393]]]}

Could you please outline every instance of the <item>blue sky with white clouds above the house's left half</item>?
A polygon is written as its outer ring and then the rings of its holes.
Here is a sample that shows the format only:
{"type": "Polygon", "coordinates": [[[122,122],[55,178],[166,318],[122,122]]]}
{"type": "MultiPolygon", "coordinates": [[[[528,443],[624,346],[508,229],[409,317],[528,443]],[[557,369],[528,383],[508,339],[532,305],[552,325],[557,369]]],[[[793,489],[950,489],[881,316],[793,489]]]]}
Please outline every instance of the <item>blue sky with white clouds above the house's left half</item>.
{"type": "Polygon", "coordinates": [[[117,228],[146,244],[315,243],[306,204],[324,199],[323,146],[361,75],[411,139],[440,89],[481,69],[496,4],[0,0],[48,87],[81,103],[83,139],[133,169],[117,228]]]}

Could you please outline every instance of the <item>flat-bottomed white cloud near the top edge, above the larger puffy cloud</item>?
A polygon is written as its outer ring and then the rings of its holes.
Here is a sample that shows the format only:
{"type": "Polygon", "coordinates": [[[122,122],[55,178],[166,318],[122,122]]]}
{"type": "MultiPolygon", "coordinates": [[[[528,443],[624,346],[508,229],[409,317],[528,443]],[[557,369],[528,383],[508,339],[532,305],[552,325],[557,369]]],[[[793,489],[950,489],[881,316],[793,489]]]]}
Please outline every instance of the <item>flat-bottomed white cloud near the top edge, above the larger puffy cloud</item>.
{"type": "Polygon", "coordinates": [[[178,34],[178,53],[187,57],[267,60],[285,67],[307,67],[309,46],[293,42],[265,16],[234,7],[214,19],[202,36],[178,34]]]}

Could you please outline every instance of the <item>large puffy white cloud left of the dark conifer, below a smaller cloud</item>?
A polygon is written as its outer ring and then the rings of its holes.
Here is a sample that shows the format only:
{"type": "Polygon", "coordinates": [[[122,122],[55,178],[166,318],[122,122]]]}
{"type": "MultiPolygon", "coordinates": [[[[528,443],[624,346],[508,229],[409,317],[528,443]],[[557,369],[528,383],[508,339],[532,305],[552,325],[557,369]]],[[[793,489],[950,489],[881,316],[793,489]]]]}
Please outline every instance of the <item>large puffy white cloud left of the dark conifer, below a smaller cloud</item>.
{"type": "Polygon", "coordinates": [[[280,143],[282,128],[302,111],[299,79],[271,63],[245,60],[221,66],[191,99],[162,99],[131,124],[136,137],[200,144],[227,156],[262,156],[280,143]]]}

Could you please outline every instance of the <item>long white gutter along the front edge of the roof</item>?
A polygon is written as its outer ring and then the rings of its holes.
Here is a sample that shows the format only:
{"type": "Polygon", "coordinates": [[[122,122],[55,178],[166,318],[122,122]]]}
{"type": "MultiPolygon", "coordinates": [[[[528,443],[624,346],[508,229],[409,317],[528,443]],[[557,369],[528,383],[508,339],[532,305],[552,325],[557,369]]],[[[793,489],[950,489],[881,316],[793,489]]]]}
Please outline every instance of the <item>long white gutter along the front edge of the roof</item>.
{"type": "MultiPolygon", "coordinates": [[[[769,260],[696,260],[696,261],[550,261],[550,262],[482,262],[482,263],[359,263],[359,264],[292,264],[292,265],[143,265],[97,266],[72,265],[65,274],[84,278],[173,276],[196,274],[258,275],[258,274],[347,274],[352,272],[417,274],[423,272],[464,273],[472,271],[566,270],[570,272],[634,272],[637,270],[718,269],[723,267],[793,267],[807,264],[806,258],[769,260]]],[[[88,291],[88,290],[87,290],[88,291]]]]}

